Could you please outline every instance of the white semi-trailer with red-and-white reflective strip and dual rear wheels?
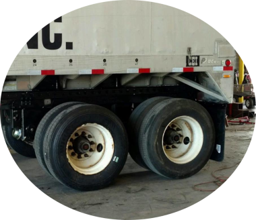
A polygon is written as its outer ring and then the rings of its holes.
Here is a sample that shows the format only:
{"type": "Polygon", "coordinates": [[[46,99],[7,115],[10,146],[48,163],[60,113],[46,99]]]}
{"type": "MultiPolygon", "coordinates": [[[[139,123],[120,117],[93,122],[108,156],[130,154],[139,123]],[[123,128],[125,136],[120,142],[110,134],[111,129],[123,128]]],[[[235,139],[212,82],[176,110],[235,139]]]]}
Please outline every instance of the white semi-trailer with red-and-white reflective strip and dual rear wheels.
{"type": "Polygon", "coordinates": [[[234,0],[0,0],[1,137],[77,190],[127,154],[167,178],[224,158],[234,0]]]}

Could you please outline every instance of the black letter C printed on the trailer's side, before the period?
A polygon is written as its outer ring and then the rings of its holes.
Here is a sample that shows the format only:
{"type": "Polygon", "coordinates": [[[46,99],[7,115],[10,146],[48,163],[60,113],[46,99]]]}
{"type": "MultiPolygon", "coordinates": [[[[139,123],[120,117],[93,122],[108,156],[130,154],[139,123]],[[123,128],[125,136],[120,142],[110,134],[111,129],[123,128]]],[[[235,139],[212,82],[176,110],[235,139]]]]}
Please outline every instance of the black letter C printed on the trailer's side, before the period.
{"type": "Polygon", "coordinates": [[[42,11],[42,44],[48,50],[58,50],[62,45],[62,34],[55,34],[54,42],[50,40],[50,17],[55,17],[55,22],[62,22],[61,10],[56,7],[46,7],[42,11]]]}

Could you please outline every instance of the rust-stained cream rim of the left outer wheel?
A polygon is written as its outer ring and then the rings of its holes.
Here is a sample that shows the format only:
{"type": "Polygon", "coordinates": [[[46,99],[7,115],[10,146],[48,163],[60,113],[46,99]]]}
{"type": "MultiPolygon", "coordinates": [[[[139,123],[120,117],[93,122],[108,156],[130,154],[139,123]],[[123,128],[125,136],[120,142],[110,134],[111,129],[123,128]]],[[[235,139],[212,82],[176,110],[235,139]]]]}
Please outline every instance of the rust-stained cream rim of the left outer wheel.
{"type": "MultiPolygon", "coordinates": [[[[86,146],[87,148],[87,146],[86,146]]],[[[79,148],[80,149],[80,148],[79,148]]],[[[82,149],[84,151],[84,147],[82,149]]],[[[102,125],[88,123],[78,127],[67,142],[67,160],[71,167],[84,175],[93,175],[104,170],[114,155],[114,140],[111,133],[102,125]],[[86,152],[77,151],[77,138],[89,142],[86,152]]]]}

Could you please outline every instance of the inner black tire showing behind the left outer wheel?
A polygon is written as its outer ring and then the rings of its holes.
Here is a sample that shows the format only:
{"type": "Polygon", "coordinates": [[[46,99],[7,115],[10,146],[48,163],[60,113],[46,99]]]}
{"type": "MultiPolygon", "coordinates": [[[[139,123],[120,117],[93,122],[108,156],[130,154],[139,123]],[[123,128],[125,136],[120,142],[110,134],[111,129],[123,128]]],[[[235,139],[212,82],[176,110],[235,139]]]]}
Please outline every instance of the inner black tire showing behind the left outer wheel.
{"type": "Polygon", "coordinates": [[[65,109],[74,106],[74,105],[79,105],[81,103],[78,102],[69,102],[69,103],[63,103],[61,105],[58,105],[57,107],[51,109],[40,121],[37,129],[36,129],[36,135],[34,137],[34,151],[36,153],[36,158],[42,167],[42,169],[47,172],[48,174],[51,174],[49,172],[49,169],[46,166],[46,163],[44,161],[44,153],[43,153],[43,140],[44,136],[46,134],[46,131],[49,127],[49,125],[52,123],[52,121],[65,109]]]}

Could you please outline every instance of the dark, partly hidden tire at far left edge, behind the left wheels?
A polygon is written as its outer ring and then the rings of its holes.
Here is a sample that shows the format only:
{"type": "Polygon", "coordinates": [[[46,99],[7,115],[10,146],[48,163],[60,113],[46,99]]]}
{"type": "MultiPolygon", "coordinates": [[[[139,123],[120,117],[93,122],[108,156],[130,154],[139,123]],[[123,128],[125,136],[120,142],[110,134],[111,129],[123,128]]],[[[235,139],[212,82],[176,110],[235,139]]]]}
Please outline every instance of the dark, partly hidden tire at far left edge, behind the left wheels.
{"type": "Polygon", "coordinates": [[[7,146],[9,146],[12,150],[27,158],[36,158],[32,144],[15,139],[12,136],[12,128],[10,125],[2,126],[2,131],[3,138],[6,141],[7,146]]]}

